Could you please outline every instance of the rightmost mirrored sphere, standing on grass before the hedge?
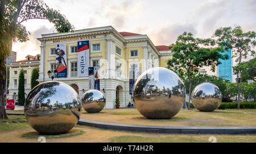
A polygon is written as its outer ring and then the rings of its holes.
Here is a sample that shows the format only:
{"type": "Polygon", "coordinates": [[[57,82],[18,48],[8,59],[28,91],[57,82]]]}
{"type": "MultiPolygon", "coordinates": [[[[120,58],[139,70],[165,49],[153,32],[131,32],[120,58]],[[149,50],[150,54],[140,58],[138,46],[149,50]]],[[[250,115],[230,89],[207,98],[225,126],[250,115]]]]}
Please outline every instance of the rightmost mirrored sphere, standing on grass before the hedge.
{"type": "Polygon", "coordinates": [[[193,106],[200,111],[214,111],[221,104],[222,94],[220,89],[208,82],[197,85],[191,95],[193,106]]]}

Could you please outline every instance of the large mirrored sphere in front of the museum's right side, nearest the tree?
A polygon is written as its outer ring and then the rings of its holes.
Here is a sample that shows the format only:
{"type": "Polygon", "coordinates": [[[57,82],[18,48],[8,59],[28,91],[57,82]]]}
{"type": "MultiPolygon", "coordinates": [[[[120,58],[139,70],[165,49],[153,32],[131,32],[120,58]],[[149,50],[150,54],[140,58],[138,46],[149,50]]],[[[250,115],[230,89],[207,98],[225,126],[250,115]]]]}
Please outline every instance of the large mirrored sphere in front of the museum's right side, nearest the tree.
{"type": "Polygon", "coordinates": [[[148,119],[170,119],[185,101],[185,86],[167,68],[151,68],[138,77],[133,87],[134,105],[148,119]]]}

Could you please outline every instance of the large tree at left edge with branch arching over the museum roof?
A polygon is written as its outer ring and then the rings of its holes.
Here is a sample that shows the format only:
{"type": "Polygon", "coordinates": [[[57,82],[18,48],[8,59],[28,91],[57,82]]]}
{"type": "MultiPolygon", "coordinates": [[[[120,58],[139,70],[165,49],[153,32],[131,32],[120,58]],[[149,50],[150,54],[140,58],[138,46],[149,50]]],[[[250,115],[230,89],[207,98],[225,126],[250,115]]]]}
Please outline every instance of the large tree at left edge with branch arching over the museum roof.
{"type": "Polygon", "coordinates": [[[74,27],[59,11],[50,9],[42,0],[0,1],[0,118],[8,118],[4,105],[6,69],[4,60],[10,55],[13,41],[27,41],[30,32],[22,23],[29,19],[48,19],[58,32],[73,31],[74,27]]]}

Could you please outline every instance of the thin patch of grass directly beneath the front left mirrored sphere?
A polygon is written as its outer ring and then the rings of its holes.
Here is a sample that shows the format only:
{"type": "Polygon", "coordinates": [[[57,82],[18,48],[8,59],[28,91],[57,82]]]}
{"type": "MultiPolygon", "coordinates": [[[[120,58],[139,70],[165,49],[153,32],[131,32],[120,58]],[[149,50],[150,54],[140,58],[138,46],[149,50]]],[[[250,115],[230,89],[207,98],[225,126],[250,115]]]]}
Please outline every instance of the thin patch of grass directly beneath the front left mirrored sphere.
{"type": "Polygon", "coordinates": [[[59,135],[42,135],[39,134],[39,132],[32,131],[32,132],[27,132],[26,134],[22,135],[22,138],[29,138],[29,139],[37,139],[40,136],[44,136],[46,139],[60,139],[60,138],[70,138],[73,136],[78,136],[84,134],[84,131],[81,130],[71,130],[66,134],[59,134],[59,135]]]}

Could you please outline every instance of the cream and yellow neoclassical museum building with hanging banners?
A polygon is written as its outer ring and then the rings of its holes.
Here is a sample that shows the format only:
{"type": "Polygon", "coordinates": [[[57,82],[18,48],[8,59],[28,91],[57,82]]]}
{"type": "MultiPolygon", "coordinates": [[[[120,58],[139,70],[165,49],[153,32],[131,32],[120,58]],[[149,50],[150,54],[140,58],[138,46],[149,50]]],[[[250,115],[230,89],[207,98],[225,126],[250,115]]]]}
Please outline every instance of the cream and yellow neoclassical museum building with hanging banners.
{"type": "Polygon", "coordinates": [[[85,91],[96,89],[97,82],[106,97],[105,109],[114,109],[115,98],[120,107],[133,103],[131,88],[139,74],[166,67],[171,58],[168,46],[155,46],[147,35],[118,32],[112,26],[42,34],[38,40],[39,82],[51,81],[57,70],[60,74],[53,80],[72,86],[80,98],[85,91]]]}

